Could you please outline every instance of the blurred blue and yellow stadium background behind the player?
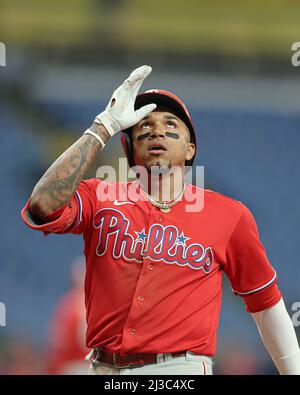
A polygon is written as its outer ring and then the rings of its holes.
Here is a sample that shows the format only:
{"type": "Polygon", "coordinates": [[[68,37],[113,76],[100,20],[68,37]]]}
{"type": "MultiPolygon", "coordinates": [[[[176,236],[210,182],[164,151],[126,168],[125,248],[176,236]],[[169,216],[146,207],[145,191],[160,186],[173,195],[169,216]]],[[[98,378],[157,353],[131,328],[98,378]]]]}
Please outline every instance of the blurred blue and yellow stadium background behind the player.
{"type": "MultiPolygon", "coordinates": [[[[49,165],[142,64],[144,88],[187,104],[205,186],[254,213],[287,309],[300,301],[299,1],[0,1],[0,373],[47,373],[49,320],[82,253],[76,236],[31,231],[20,211],[49,165]]],[[[118,138],[91,169],[117,166],[118,138]]],[[[219,374],[276,374],[225,280],[219,374]]],[[[300,322],[299,322],[300,324],[300,322]]],[[[299,327],[296,327],[299,335],[299,327]]]]}

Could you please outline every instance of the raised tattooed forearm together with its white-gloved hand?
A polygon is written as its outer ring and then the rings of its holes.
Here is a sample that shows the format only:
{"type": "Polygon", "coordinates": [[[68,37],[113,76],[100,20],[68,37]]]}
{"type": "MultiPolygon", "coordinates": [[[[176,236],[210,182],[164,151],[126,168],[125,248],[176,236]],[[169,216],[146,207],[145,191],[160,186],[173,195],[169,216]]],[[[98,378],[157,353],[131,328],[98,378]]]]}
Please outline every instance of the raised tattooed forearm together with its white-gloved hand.
{"type": "MultiPolygon", "coordinates": [[[[120,130],[125,130],[143,119],[156,104],[135,110],[134,103],[144,79],[151,73],[150,66],[135,69],[114,91],[107,107],[98,114],[90,130],[104,143],[120,130]]],[[[70,202],[76,189],[101,149],[92,135],[83,135],[65,151],[46,171],[30,197],[30,212],[43,219],[70,202]]]]}

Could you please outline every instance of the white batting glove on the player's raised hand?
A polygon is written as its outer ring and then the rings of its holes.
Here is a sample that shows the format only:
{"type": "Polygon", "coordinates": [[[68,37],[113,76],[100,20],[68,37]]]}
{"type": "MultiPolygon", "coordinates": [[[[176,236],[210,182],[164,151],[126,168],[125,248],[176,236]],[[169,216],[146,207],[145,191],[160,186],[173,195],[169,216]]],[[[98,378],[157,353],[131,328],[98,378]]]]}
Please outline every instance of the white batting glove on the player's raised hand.
{"type": "Polygon", "coordinates": [[[156,104],[147,104],[139,110],[135,110],[134,103],[144,79],[151,71],[150,66],[141,66],[135,69],[114,91],[107,107],[96,116],[94,122],[104,125],[108,133],[113,136],[120,130],[135,125],[150,114],[157,107],[156,104]]]}

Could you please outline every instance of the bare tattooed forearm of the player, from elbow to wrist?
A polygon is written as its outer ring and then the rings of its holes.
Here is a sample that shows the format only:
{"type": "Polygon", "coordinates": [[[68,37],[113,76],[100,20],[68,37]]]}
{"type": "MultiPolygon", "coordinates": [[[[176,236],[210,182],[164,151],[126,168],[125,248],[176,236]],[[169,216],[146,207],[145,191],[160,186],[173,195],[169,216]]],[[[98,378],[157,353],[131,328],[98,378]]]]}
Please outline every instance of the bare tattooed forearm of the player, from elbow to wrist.
{"type": "MultiPolygon", "coordinates": [[[[104,142],[110,138],[103,125],[94,123],[90,130],[104,142]]],[[[81,136],[37,183],[30,197],[30,212],[37,218],[44,218],[70,202],[100,150],[101,144],[94,136],[81,136]]]]}

